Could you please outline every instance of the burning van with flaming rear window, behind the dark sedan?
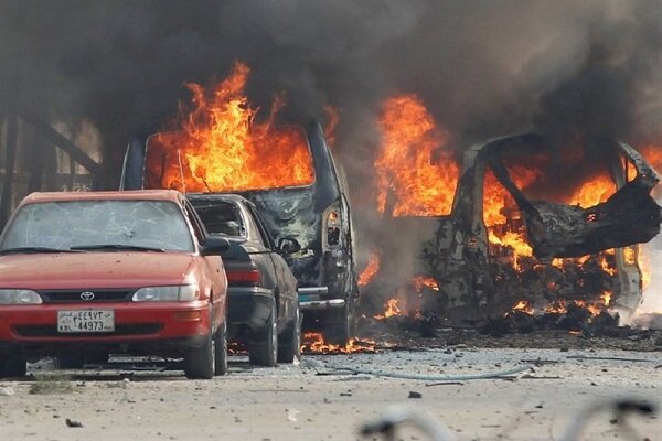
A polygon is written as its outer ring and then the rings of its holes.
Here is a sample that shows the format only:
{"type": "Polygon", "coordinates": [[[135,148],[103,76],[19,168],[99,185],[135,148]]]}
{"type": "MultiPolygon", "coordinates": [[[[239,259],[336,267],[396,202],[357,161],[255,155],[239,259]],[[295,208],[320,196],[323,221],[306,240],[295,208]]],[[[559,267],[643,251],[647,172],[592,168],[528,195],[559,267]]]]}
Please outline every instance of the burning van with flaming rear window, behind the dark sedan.
{"type": "MultiPolygon", "coordinates": [[[[233,178],[233,170],[229,182],[223,182],[221,189],[253,202],[277,243],[296,238],[300,249],[288,256],[287,261],[299,283],[299,303],[306,323],[321,324],[330,342],[345,344],[354,334],[359,297],[346,183],[318,122],[311,121],[305,128],[282,126],[269,130],[286,133],[288,144],[301,148],[288,158],[271,160],[265,153],[250,162],[239,161],[239,165],[247,165],[250,173],[263,172],[261,178],[268,179],[284,169],[289,172],[288,161],[297,157],[310,163],[308,178],[295,184],[270,180],[266,186],[260,183],[242,186],[233,178]]],[[[125,157],[121,187],[220,191],[212,181],[215,169],[210,155],[214,152],[205,151],[199,158],[191,154],[207,141],[192,140],[191,135],[182,132],[156,133],[146,142],[132,141],[125,157]],[[196,165],[195,159],[203,164],[196,165]]],[[[225,144],[218,144],[216,152],[224,148],[225,144]]],[[[291,170],[299,172],[293,165],[291,170]]]]}

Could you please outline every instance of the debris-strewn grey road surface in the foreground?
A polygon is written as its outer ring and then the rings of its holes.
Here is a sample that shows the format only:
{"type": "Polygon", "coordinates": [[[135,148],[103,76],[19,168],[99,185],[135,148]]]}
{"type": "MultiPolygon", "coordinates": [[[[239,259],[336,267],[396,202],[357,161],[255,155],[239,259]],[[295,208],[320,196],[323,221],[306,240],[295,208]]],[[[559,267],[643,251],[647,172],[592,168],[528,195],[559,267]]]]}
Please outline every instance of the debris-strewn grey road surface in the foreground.
{"type": "MultiPolygon", "coordinates": [[[[378,440],[360,435],[361,426],[398,406],[401,416],[445,424],[458,440],[562,440],[567,424],[584,420],[580,410],[596,402],[661,404],[661,365],[662,352],[573,349],[306,355],[299,366],[277,368],[250,368],[246,357],[233,356],[229,375],[193,381],[177,370],[143,370],[153,367],[145,363],[67,372],[42,363],[28,379],[0,381],[0,439],[378,440]],[[448,377],[524,366],[533,372],[445,384],[337,369],[448,377]]],[[[601,411],[586,420],[580,439],[629,439],[627,420],[639,433],[632,439],[662,440],[660,416],[601,411]]],[[[431,439],[410,426],[396,430],[394,439],[431,439]]]]}

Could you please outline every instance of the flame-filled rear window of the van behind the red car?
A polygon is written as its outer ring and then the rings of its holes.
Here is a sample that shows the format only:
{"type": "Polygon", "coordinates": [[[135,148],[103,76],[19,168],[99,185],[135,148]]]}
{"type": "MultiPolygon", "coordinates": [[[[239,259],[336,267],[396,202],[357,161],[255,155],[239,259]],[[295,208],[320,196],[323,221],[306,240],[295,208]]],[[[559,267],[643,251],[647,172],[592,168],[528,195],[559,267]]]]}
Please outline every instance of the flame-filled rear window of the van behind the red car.
{"type": "Polygon", "coordinates": [[[157,133],[147,143],[145,187],[229,192],[306,186],[314,169],[305,131],[279,126],[248,138],[157,133]]]}

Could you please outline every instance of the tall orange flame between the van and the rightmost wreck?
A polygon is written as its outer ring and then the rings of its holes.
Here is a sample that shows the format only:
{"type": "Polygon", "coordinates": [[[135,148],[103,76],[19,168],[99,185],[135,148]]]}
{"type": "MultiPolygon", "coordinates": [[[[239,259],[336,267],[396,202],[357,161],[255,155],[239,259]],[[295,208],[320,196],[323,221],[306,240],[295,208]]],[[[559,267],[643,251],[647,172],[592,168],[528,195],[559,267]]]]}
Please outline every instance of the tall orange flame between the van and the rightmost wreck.
{"type": "Polygon", "coordinates": [[[450,213],[459,176],[448,133],[435,125],[415,95],[387,99],[380,118],[381,151],[375,160],[377,207],[393,216],[450,213]]]}

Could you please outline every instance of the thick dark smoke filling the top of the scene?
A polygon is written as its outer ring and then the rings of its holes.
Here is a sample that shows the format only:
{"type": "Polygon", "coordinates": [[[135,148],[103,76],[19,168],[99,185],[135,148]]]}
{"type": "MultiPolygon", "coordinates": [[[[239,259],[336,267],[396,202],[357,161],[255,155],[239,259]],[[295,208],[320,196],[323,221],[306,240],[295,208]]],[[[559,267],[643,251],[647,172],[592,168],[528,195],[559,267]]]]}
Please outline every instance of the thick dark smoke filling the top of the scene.
{"type": "Polygon", "coordinates": [[[285,92],[292,120],[340,109],[356,182],[397,93],[418,94],[460,148],[532,128],[654,141],[661,19],[656,0],[2,0],[0,99],[92,121],[117,175],[127,140],[175,116],[183,83],[241,60],[255,105],[285,92]]]}

